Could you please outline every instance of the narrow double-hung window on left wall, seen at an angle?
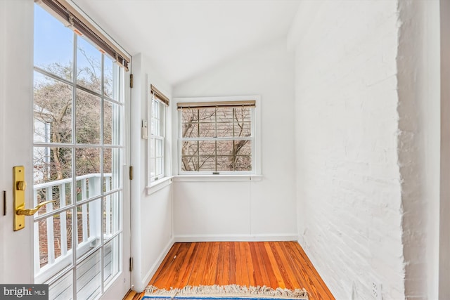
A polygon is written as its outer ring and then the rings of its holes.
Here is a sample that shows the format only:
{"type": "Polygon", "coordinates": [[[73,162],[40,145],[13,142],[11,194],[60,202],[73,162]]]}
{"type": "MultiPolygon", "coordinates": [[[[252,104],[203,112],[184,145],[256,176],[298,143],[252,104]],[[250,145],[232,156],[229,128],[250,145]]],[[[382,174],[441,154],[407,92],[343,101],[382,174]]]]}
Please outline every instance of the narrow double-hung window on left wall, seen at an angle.
{"type": "Polygon", "coordinates": [[[165,177],[165,117],[169,98],[151,86],[150,100],[150,184],[165,177]]]}

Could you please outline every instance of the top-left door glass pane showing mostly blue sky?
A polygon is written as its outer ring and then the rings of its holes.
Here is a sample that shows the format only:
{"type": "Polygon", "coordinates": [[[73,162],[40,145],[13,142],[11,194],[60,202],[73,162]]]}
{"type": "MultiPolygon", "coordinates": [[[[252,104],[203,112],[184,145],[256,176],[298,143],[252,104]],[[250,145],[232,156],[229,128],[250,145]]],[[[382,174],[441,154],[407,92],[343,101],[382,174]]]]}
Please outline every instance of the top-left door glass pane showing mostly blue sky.
{"type": "Polygon", "coordinates": [[[72,81],[72,61],[72,30],[35,5],[34,65],[72,81]]]}

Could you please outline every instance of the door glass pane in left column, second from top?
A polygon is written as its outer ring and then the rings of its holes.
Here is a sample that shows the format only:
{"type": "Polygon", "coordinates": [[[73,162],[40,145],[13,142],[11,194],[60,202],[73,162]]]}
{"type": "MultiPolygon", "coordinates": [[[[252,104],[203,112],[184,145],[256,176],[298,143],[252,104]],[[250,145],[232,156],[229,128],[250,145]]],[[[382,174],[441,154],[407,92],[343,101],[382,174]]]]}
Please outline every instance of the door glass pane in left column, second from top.
{"type": "Polygon", "coordinates": [[[34,72],[34,141],[72,143],[72,87],[34,72]]]}

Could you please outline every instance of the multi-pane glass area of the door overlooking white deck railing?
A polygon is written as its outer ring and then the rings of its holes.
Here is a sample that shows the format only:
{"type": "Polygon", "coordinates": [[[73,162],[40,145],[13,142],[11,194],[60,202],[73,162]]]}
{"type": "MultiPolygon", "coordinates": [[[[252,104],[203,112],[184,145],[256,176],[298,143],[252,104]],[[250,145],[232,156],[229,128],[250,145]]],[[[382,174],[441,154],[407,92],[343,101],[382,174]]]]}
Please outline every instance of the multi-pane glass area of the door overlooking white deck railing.
{"type": "Polygon", "coordinates": [[[32,198],[34,207],[52,201],[31,225],[34,282],[49,284],[50,299],[98,299],[129,274],[124,74],[34,5],[32,198]]]}

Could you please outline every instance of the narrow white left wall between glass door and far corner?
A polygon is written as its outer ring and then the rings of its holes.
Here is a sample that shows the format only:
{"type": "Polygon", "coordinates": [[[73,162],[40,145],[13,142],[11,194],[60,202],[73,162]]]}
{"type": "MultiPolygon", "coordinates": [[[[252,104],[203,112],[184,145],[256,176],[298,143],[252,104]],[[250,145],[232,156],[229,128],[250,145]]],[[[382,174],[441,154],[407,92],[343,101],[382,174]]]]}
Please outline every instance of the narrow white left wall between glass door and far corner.
{"type": "MultiPolygon", "coordinates": [[[[134,88],[131,89],[131,165],[134,178],[131,181],[131,252],[134,259],[132,284],[141,292],[158,269],[173,244],[171,185],[148,193],[148,140],[141,138],[141,120],[148,120],[150,84],[171,98],[172,87],[152,67],[149,58],[142,54],[133,56],[134,88]]],[[[171,103],[171,105],[173,105],[171,103]]],[[[170,157],[170,110],[167,110],[166,155],[170,157]]],[[[150,124],[150,120],[148,120],[150,124]]],[[[171,174],[168,174],[169,176],[171,174]]]]}

